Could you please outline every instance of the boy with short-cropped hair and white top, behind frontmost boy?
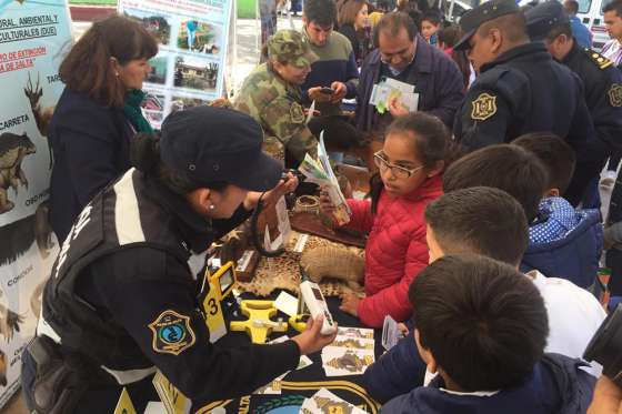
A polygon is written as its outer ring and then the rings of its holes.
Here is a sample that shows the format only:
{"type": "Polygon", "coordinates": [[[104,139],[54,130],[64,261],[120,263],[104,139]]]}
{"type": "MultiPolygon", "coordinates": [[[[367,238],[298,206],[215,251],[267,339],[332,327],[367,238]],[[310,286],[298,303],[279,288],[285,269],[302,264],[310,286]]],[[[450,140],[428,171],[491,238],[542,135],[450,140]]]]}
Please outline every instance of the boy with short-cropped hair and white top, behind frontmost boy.
{"type": "MultiPolygon", "coordinates": [[[[521,204],[502,190],[472,186],[440,196],[425,209],[430,262],[447,254],[475,253],[519,267],[529,244],[528,220],[521,204]]],[[[545,352],[581,357],[605,313],[594,296],[573,283],[525,274],[544,299],[549,317],[545,352]]],[[[415,309],[417,312],[417,309],[415,309]]],[[[600,375],[600,366],[585,371],[600,375]]],[[[364,373],[363,386],[383,403],[422,385],[425,364],[413,341],[401,340],[364,373]]]]}

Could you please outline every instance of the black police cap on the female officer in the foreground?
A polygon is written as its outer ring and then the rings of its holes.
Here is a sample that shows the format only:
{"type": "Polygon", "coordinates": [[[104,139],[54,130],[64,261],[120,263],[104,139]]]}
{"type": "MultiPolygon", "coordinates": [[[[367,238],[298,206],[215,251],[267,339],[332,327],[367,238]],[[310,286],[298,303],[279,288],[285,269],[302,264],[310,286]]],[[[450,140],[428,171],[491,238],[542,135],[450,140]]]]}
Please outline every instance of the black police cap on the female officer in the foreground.
{"type": "Polygon", "coordinates": [[[167,117],[160,156],[200,186],[227,182],[268,191],[278,184],[282,168],[262,152],[262,142],[261,125],[245,113],[200,105],[167,117]]]}

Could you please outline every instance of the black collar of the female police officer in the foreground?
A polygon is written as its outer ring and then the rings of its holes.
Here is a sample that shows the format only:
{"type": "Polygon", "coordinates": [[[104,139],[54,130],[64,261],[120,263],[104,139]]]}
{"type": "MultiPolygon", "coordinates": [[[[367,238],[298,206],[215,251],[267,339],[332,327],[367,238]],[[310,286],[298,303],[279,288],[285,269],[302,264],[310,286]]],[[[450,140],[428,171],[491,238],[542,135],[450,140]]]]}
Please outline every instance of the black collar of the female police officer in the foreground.
{"type": "Polygon", "coordinates": [[[214,239],[211,221],[197,213],[188,201],[156,180],[146,176],[147,194],[167,211],[177,224],[180,236],[194,253],[207,250],[214,239]]]}

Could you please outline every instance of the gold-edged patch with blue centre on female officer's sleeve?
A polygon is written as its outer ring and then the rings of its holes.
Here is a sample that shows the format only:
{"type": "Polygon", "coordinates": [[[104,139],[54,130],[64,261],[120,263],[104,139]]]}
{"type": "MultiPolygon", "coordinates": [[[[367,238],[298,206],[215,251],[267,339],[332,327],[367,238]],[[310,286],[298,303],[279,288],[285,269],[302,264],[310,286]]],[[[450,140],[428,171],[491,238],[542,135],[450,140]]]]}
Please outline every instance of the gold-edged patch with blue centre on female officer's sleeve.
{"type": "Polygon", "coordinates": [[[197,340],[190,326],[190,316],[167,310],[149,324],[153,333],[153,351],[161,354],[179,355],[197,340]]]}

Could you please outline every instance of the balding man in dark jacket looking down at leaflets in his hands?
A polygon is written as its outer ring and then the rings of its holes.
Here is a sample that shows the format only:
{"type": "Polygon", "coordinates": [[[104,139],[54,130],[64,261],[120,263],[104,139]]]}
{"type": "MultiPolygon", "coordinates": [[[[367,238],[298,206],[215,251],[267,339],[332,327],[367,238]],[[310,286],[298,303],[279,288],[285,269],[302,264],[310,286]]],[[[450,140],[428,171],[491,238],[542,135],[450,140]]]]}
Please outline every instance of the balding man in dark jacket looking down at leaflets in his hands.
{"type": "Polygon", "coordinates": [[[437,115],[447,125],[464,98],[462,74],[441,50],[418,34],[412,19],[401,12],[387,13],[374,31],[378,49],[368,54],[361,68],[358,91],[357,128],[374,141],[382,141],[384,129],[394,117],[408,111],[399,104],[380,113],[370,103],[373,87],[390,78],[414,85],[419,111],[437,115]]]}

